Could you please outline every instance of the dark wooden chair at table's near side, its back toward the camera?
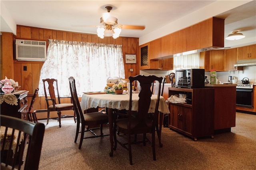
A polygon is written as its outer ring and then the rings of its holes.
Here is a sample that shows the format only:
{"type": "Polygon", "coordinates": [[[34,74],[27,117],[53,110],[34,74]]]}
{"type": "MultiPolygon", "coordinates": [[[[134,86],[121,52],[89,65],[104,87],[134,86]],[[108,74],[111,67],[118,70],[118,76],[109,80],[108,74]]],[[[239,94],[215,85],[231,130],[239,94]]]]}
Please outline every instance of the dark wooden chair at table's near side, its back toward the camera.
{"type": "MultiPolygon", "coordinates": [[[[139,93],[139,100],[138,100],[138,116],[133,117],[132,116],[132,87],[130,84],[130,96],[129,96],[129,112],[128,112],[128,118],[124,119],[115,119],[116,116],[114,116],[114,150],[116,150],[117,143],[120,144],[122,147],[127,149],[129,151],[129,159],[130,164],[132,165],[132,149],[131,145],[134,144],[134,142],[131,141],[131,135],[136,134],[143,134],[143,145],[146,145],[146,141],[150,143],[152,146],[152,152],[153,152],[153,160],[156,160],[156,149],[155,149],[155,131],[156,131],[156,121],[158,120],[158,106],[159,106],[159,100],[160,100],[160,89],[161,84],[159,85],[158,89],[158,95],[157,95],[157,101],[154,111],[154,118],[151,119],[148,116],[148,110],[150,108],[150,101],[151,101],[151,86],[154,81],[162,82],[162,77],[157,76],[143,76],[138,75],[134,77],[129,77],[129,82],[133,82],[134,80],[138,80],[140,82],[140,93],[139,93]],[[118,141],[116,137],[116,131],[119,131],[120,133],[124,133],[128,135],[128,143],[121,143],[118,141]],[[146,138],[146,133],[151,133],[151,142],[146,138]],[[128,147],[127,147],[128,145],[128,147]]],[[[141,142],[136,142],[141,143],[141,142]]]]}

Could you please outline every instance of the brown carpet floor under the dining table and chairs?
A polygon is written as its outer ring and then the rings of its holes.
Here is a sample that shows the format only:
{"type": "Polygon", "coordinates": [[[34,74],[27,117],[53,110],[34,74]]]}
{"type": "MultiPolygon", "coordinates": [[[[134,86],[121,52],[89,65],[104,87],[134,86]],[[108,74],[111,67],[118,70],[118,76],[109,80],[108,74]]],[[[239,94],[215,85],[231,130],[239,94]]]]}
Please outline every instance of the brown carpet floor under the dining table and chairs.
{"type": "MultiPolygon", "coordinates": [[[[232,127],[230,133],[214,135],[214,139],[206,137],[193,141],[169,128],[162,128],[163,147],[159,147],[156,137],[156,161],[149,144],[145,147],[137,144],[132,145],[133,165],[129,164],[128,151],[120,145],[117,145],[113,157],[109,156],[109,136],[84,139],[82,148],[78,149],[80,137],[74,143],[74,119],[61,121],[61,128],[57,120],[50,120],[46,125],[40,170],[256,169],[256,115],[236,113],[236,127],[232,127]]],[[[46,120],[40,122],[46,124],[46,120]]],[[[107,125],[104,133],[108,133],[107,125]]]]}

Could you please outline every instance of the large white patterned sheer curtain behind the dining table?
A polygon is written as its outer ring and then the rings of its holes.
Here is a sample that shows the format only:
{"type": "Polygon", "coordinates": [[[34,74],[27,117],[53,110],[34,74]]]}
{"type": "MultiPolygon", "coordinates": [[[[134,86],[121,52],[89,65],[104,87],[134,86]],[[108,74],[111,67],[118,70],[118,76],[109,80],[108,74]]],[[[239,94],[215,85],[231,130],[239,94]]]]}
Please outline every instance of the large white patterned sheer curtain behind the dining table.
{"type": "Polygon", "coordinates": [[[76,80],[78,96],[103,91],[109,76],[125,78],[122,45],[49,40],[47,59],[39,81],[38,96],[44,96],[42,79],[55,78],[61,97],[70,96],[68,78],[76,80]]]}

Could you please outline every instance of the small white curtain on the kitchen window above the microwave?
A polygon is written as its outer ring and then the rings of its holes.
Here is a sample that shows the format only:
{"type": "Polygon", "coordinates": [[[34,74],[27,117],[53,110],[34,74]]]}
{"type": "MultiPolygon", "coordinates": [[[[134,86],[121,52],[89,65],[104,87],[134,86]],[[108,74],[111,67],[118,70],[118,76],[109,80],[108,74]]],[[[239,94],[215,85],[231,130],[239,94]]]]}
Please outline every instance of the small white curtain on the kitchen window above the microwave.
{"type": "Polygon", "coordinates": [[[199,68],[200,53],[182,55],[173,58],[174,70],[180,68],[199,68]]]}

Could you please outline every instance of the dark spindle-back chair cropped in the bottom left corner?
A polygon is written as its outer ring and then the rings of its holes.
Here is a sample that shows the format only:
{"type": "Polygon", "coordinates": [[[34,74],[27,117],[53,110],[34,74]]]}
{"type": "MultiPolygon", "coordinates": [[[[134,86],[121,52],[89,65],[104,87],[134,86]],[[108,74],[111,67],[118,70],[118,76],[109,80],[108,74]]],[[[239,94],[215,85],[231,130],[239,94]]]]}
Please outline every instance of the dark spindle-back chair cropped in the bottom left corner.
{"type": "Polygon", "coordinates": [[[1,170],[38,170],[44,124],[0,115],[1,170]]]}

